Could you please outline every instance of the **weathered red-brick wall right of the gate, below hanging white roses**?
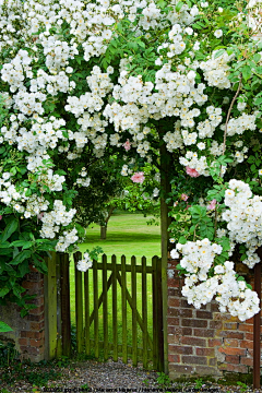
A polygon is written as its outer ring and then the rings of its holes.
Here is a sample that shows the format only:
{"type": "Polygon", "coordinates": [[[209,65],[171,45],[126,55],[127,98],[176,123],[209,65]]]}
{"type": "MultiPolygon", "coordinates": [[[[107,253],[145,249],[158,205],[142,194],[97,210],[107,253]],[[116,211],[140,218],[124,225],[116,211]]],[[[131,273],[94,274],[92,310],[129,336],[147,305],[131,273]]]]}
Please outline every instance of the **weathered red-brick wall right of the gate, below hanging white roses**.
{"type": "MultiPolygon", "coordinates": [[[[253,362],[252,319],[223,314],[212,301],[196,310],[181,296],[183,281],[168,261],[168,360],[170,378],[181,374],[248,373],[253,362]]],[[[252,284],[252,279],[250,281],[252,284]]]]}

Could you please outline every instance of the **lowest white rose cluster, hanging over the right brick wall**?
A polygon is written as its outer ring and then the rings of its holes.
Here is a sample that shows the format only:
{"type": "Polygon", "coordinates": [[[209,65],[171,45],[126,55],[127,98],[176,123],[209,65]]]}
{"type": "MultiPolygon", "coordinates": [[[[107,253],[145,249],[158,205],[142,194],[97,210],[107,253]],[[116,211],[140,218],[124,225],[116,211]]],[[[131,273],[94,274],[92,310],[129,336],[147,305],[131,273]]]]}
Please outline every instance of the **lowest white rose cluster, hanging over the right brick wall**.
{"type": "Polygon", "coordinates": [[[215,262],[215,257],[222,251],[222,246],[211,243],[209,239],[177,243],[171,258],[179,258],[182,253],[180,265],[187,270],[182,295],[195,308],[215,298],[222,312],[228,311],[245,321],[259,312],[259,297],[245,282],[237,281],[233,262],[215,262]],[[211,267],[214,267],[214,274],[209,277],[211,267]]]}

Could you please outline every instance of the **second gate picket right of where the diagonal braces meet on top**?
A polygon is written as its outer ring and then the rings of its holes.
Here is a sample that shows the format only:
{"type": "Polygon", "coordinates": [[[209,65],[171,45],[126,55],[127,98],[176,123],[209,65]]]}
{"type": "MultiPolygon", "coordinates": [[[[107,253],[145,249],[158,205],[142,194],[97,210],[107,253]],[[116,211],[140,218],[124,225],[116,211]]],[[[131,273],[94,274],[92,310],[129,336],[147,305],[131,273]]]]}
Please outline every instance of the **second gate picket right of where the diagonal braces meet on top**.
{"type": "Polygon", "coordinates": [[[135,257],[131,258],[131,293],[132,293],[132,361],[138,366],[138,324],[136,324],[136,271],[135,257]]]}

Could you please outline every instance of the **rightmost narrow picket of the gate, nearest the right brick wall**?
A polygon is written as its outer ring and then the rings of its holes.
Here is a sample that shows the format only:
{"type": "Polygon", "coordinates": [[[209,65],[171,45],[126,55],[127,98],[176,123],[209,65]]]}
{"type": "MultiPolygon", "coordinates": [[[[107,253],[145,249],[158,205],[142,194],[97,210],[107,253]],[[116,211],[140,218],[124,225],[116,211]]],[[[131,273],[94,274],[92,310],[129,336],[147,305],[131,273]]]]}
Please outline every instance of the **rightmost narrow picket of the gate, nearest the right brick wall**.
{"type": "Polygon", "coordinates": [[[153,367],[154,369],[157,368],[157,349],[158,349],[158,340],[157,340],[157,283],[156,283],[156,263],[157,260],[155,257],[153,257],[152,259],[152,289],[153,289],[153,301],[152,301],[152,306],[153,306],[153,367]]]}

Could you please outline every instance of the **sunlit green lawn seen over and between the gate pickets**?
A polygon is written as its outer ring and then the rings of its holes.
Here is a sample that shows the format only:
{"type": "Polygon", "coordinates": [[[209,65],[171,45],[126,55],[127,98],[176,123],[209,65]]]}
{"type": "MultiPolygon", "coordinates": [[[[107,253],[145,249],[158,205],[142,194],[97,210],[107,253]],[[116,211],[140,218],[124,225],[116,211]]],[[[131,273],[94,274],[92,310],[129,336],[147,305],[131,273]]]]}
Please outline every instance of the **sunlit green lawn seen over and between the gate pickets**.
{"type": "MultiPolygon", "coordinates": [[[[152,257],[160,254],[160,228],[159,226],[148,226],[142,214],[116,214],[114,215],[108,225],[107,239],[100,240],[100,228],[98,225],[91,225],[86,230],[86,242],[80,245],[80,250],[84,252],[86,249],[100,246],[104,253],[108,257],[116,254],[117,263],[120,263],[120,257],[127,257],[127,264],[130,264],[131,257],[136,257],[136,263],[141,263],[141,258],[146,257],[147,264],[151,265],[152,257]]],[[[142,315],[142,284],[141,274],[138,273],[136,296],[138,296],[138,310],[142,315]]],[[[109,272],[108,272],[109,277],[109,272]]],[[[91,310],[93,309],[93,272],[90,271],[90,294],[91,294],[91,310]]],[[[131,274],[127,273],[127,286],[131,294],[131,274]]],[[[71,301],[71,321],[75,323],[75,288],[74,288],[74,266],[70,264],[70,301],[71,301]]],[[[98,272],[98,296],[102,293],[102,271],[98,272]]],[[[147,277],[147,294],[148,294],[148,332],[152,336],[152,276],[147,277]]],[[[121,344],[122,330],[121,330],[121,287],[117,287],[117,309],[118,309],[118,343],[121,344]]],[[[111,288],[108,290],[108,305],[111,305],[111,288]]],[[[109,306],[110,307],[110,306],[109,306]]],[[[102,307],[99,309],[99,340],[103,341],[103,313],[102,307]]],[[[109,323],[109,342],[112,342],[112,321],[111,309],[108,308],[108,323],[109,323]]],[[[91,336],[94,336],[94,324],[91,326],[91,336]]],[[[132,313],[128,306],[128,331],[131,332],[132,313]]],[[[128,337],[128,344],[132,345],[131,334],[128,337]]],[[[142,347],[142,332],[138,325],[138,345],[142,347]]]]}

